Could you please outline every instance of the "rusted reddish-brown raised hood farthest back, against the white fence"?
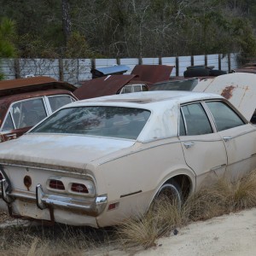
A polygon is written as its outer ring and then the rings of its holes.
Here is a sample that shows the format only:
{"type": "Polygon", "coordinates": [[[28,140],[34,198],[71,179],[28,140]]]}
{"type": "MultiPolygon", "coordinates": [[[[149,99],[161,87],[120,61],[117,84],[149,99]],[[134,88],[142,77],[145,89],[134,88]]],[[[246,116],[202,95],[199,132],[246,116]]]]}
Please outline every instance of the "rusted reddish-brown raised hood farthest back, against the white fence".
{"type": "Polygon", "coordinates": [[[134,80],[148,81],[157,83],[168,80],[171,76],[173,66],[167,65],[137,65],[131,71],[131,74],[137,75],[134,80]]]}

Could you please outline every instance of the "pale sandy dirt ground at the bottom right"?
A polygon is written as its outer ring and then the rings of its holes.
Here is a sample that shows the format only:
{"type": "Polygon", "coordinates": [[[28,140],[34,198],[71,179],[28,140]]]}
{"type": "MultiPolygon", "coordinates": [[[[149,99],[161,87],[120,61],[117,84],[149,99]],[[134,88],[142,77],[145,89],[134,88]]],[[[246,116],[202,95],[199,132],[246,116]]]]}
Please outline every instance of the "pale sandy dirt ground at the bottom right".
{"type": "MultiPolygon", "coordinates": [[[[9,222],[14,223],[14,218],[0,212],[0,224],[9,222]]],[[[155,247],[147,250],[135,248],[125,252],[109,249],[103,250],[104,253],[94,251],[93,255],[253,256],[256,255],[256,208],[189,224],[179,229],[177,236],[170,234],[160,238],[155,247]]]]}

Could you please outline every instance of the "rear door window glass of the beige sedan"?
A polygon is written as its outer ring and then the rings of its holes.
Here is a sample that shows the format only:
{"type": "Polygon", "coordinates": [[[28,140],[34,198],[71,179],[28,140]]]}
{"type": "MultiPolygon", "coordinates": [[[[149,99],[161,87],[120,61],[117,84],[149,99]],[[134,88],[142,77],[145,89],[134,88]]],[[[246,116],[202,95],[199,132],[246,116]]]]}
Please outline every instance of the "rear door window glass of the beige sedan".
{"type": "Polygon", "coordinates": [[[182,113],[186,126],[186,135],[212,133],[212,125],[207,117],[207,113],[204,108],[202,108],[201,103],[182,106],[182,113]]]}

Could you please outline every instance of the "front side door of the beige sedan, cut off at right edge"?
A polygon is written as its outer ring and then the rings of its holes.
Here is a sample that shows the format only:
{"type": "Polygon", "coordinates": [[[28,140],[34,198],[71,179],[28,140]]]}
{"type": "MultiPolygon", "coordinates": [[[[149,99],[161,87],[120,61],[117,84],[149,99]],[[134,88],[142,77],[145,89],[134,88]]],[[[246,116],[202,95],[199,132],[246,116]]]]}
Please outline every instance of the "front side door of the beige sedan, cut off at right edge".
{"type": "Polygon", "coordinates": [[[206,102],[228,154],[227,174],[241,177],[256,167],[256,129],[226,102],[206,102]]]}

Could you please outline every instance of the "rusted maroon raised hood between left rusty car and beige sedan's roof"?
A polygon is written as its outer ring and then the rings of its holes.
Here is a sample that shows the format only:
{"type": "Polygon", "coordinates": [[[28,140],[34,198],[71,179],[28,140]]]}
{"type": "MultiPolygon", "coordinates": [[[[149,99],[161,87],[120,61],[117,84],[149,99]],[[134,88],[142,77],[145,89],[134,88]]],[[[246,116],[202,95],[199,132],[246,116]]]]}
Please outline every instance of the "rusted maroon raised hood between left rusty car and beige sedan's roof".
{"type": "Polygon", "coordinates": [[[81,87],[73,92],[79,100],[116,94],[136,75],[110,75],[98,79],[84,81],[81,87]]]}

